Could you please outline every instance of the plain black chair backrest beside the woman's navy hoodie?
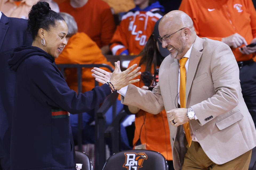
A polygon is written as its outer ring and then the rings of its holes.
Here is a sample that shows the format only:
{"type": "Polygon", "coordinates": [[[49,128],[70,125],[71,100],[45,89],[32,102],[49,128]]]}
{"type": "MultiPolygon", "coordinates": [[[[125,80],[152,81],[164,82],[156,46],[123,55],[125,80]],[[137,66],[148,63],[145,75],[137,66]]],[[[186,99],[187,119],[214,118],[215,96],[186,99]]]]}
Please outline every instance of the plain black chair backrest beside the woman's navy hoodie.
{"type": "Polygon", "coordinates": [[[77,164],[83,164],[81,170],[93,170],[90,158],[85,152],[75,151],[75,162],[77,164]]]}

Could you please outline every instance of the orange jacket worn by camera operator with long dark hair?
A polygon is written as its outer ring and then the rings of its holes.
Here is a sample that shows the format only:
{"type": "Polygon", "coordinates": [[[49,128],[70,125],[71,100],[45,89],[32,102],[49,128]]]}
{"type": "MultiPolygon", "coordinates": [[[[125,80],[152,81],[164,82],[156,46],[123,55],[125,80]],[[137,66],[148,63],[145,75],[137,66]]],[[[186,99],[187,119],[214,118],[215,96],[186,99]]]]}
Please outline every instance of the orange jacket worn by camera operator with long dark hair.
{"type": "MultiPolygon", "coordinates": [[[[133,64],[139,65],[140,60],[141,57],[134,58],[130,61],[128,67],[132,66],[133,64]]],[[[146,66],[142,64],[139,71],[143,72],[145,69],[146,66]]],[[[151,73],[154,73],[153,66],[151,68],[151,73]]],[[[141,76],[137,76],[136,79],[141,79],[141,76]]],[[[144,86],[144,83],[142,83],[141,80],[133,84],[137,87],[144,86]]],[[[170,131],[165,110],[158,114],[151,114],[143,110],[136,113],[133,145],[138,141],[140,131],[140,140],[142,144],[146,144],[146,149],[160,152],[165,159],[173,160],[170,143],[170,131]],[[145,124],[143,125],[144,119],[145,124]]]]}

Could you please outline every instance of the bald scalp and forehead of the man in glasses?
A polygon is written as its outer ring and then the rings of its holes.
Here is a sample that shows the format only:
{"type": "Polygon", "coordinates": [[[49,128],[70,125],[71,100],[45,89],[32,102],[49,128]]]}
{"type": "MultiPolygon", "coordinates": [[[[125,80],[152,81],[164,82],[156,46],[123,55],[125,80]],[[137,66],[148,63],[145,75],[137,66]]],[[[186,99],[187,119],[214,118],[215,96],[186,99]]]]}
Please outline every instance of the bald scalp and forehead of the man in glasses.
{"type": "MultiPolygon", "coordinates": [[[[164,15],[159,23],[159,26],[158,26],[159,33],[160,33],[160,31],[161,32],[167,31],[167,30],[165,30],[165,31],[161,30],[162,28],[169,28],[170,30],[174,31],[174,30],[179,30],[184,27],[190,28],[191,32],[195,31],[195,29],[193,27],[193,21],[189,17],[189,15],[187,15],[185,12],[179,11],[179,10],[170,11],[166,15],[164,15]]],[[[163,37],[166,35],[160,34],[160,36],[163,37]]]]}

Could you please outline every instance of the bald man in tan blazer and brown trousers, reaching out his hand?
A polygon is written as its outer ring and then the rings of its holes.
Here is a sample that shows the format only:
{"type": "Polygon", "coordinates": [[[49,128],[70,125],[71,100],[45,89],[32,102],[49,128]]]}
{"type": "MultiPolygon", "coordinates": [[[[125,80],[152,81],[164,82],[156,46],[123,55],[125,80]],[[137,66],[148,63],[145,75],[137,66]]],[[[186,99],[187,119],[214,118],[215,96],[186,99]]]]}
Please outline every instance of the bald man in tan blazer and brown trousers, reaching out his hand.
{"type": "MultiPolygon", "coordinates": [[[[122,103],[152,114],[167,111],[176,170],[248,169],[256,130],[243,100],[231,49],[220,41],[199,38],[191,18],[182,11],[163,16],[159,35],[170,55],[159,68],[157,86],[151,92],[130,84],[127,90],[118,91],[125,96],[122,103]],[[179,108],[179,60],[183,57],[189,58],[185,65],[186,108],[179,108]],[[180,126],[188,121],[190,147],[180,126]]],[[[108,73],[100,72],[104,75],[93,71],[96,80],[107,81],[108,73]]]]}

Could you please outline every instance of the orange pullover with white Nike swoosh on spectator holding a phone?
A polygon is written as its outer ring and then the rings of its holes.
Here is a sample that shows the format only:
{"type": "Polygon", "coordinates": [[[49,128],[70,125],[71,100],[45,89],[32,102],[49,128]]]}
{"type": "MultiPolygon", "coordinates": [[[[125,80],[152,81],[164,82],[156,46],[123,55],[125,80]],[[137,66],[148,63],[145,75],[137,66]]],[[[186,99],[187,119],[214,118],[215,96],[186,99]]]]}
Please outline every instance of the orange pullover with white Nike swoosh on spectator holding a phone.
{"type": "MultiPolygon", "coordinates": [[[[247,44],[256,37],[256,11],[251,0],[183,0],[179,10],[193,20],[199,37],[219,40],[234,33],[247,44]]],[[[232,48],[237,61],[250,60],[254,54],[242,54],[232,48]]]]}

